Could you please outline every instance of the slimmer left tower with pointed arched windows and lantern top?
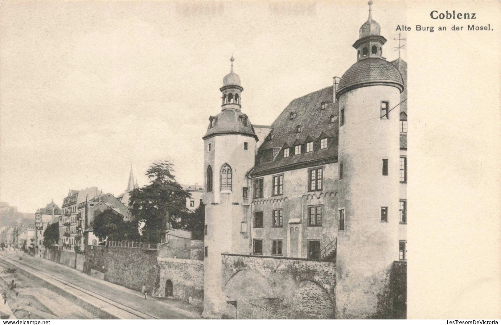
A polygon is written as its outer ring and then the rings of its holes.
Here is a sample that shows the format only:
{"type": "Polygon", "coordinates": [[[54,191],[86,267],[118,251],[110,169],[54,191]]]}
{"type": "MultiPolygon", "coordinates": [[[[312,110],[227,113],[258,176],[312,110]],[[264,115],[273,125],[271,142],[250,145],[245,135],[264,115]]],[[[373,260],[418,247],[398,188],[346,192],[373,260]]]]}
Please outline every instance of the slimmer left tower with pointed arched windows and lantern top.
{"type": "Polygon", "coordinates": [[[219,318],[226,308],[223,253],[249,254],[250,182],[258,137],[241,112],[240,78],[223,79],[221,112],[209,117],[204,141],[205,258],[203,316],[219,318]]]}

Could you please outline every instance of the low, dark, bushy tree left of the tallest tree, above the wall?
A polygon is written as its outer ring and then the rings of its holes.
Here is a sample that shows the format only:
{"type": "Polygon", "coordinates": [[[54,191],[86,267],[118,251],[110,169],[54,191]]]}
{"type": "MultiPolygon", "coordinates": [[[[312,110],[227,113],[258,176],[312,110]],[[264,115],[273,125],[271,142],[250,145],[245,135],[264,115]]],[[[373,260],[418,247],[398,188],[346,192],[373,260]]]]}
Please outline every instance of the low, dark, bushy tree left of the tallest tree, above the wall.
{"type": "Polygon", "coordinates": [[[130,240],[139,238],[138,225],[134,221],[125,221],[123,215],[113,209],[106,209],[96,215],[93,223],[94,234],[110,241],[130,240]]]}

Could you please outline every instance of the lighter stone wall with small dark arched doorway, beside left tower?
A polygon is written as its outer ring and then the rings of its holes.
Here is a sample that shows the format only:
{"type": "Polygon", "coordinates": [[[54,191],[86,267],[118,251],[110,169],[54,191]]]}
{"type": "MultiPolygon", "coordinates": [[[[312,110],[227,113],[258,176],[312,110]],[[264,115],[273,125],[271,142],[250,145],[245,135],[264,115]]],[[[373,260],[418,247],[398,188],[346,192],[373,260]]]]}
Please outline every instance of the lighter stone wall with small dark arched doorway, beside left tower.
{"type": "Polygon", "coordinates": [[[203,302],[203,261],[158,257],[160,266],[160,296],[170,294],[167,282],[172,283],[172,296],[194,305],[203,302]]]}

